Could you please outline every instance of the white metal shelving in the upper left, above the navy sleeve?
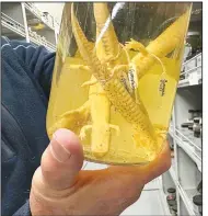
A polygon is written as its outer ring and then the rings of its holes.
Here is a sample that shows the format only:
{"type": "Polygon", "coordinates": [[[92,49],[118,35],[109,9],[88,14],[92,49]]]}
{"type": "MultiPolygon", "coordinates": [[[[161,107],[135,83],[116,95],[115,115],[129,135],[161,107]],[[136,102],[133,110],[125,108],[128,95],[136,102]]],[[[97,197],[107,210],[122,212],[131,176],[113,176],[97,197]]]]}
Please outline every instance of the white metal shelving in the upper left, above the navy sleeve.
{"type": "Polygon", "coordinates": [[[50,52],[56,50],[59,26],[49,13],[41,12],[30,2],[3,2],[1,11],[3,36],[31,42],[35,46],[44,45],[50,52]]]}

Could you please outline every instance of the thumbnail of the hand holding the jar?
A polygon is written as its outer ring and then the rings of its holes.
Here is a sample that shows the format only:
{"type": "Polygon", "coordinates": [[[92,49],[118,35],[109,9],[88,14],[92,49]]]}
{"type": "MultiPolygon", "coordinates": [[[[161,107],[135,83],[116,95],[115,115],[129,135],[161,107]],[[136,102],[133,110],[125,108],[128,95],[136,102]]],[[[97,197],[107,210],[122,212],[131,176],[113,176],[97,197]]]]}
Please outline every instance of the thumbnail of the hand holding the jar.
{"type": "Polygon", "coordinates": [[[70,151],[57,141],[56,136],[53,136],[50,141],[50,151],[54,158],[59,162],[67,161],[71,156],[70,151]]]}

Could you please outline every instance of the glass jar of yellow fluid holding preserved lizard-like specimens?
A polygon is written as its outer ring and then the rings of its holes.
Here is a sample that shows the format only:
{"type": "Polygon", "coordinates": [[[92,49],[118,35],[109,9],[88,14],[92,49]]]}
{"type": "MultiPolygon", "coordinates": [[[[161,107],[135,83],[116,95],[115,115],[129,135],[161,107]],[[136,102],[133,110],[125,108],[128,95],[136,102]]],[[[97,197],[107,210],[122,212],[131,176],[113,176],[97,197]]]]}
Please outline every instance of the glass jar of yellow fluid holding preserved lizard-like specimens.
{"type": "Polygon", "coordinates": [[[192,3],[65,4],[47,133],[74,132],[86,160],[140,164],[169,129],[192,3]]]}

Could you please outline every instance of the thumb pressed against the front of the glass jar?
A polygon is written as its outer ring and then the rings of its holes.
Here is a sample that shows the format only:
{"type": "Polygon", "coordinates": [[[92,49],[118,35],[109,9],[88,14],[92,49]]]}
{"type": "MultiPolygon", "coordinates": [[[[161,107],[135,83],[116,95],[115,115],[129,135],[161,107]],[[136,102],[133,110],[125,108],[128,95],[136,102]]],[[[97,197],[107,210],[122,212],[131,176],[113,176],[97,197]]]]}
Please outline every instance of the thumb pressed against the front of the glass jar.
{"type": "Polygon", "coordinates": [[[79,138],[68,129],[58,129],[42,157],[44,182],[56,190],[70,187],[82,164],[83,150],[79,138]]]}

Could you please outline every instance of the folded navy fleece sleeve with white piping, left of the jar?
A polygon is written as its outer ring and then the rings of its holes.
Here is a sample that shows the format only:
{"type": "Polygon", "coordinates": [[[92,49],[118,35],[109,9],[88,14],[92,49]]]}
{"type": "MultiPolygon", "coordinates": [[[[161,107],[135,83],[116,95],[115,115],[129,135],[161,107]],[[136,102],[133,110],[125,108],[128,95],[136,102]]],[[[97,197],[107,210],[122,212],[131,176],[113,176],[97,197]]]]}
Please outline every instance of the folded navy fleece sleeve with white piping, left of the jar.
{"type": "Polygon", "coordinates": [[[13,50],[16,52],[16,55],[34,75],[46,96],[49,98],[55,53],[47,50],[44,46],[35,47],[33,44],[26,42],[10,41],[10,44],[13,50]]]}

